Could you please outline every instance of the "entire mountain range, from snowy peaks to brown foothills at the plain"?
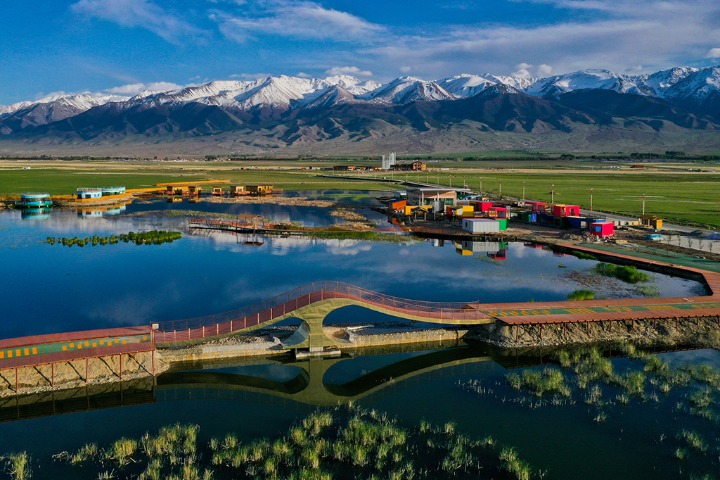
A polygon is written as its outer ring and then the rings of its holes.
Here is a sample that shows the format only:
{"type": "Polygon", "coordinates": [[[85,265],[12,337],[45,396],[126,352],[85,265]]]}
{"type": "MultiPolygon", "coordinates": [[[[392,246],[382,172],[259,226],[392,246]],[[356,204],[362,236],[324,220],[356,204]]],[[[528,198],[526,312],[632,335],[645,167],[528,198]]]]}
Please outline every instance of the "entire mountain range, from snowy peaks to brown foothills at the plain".
{"type": "Polygon", "coordinates": [[[214,81],[133,97],[80,93],[0,106],[0,151],[488,148],[720,149],[720,67],[546,78],[462,74],[386,84],[350,76],[214,81]]]}

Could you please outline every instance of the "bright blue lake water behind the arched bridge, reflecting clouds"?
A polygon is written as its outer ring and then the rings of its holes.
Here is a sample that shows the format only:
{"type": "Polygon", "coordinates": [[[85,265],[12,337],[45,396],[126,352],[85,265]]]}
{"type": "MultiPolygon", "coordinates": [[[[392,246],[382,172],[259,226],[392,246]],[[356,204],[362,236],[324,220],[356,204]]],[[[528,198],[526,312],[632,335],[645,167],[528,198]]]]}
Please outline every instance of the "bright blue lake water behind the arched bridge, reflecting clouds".
{"type": "MultiPolygon", "coordinates": [[[[188,232],[183,217],[131,213],[128,207],[123,214],[100,218],[56,211],[47,218],[21,219],[20,212],[0,212],[0,337],[191,318],[318,280],[432,301],[560,300],[581,288],[603,297],[640,295],[636,287],[591,274],[594,261],[522,243],[438,246],[412,240],[259,238],[188,232]],[[152,246],[68,248],[45,242],[49,236],[151,229],[179,229],[186,235],[172,244],[152,246]]],[[[696,282],[651,276],[650,285],[659,295],[681,297],[702,290],[696,282]]]]}

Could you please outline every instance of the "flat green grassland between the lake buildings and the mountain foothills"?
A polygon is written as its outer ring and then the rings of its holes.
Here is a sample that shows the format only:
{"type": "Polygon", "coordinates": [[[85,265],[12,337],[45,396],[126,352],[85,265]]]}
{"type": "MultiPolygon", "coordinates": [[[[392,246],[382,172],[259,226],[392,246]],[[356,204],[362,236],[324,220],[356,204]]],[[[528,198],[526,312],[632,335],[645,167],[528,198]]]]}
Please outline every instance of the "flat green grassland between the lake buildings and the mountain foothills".
{"type": "MultiPolygon", "coordinates": [[[[340,162],[334,162],[340,163],[340,162]]],[[[349,162],[348,162],[349,163],[349,162]]],[[[360,162],[358,162],[360,163],[360,162]]],[[[376,181],[415,180],[469,188],[497,196],[579,204],[593,210],[637,216],[642,211],[666,221],[720,226],[720,169],[707,164],[657,164],[642,170],[587,161],[442,162],[428,172],[347,173],[358,180],[323,178],[331,162],[0,162],[0,195],[42,191],[72,194],[76,187],[150,187],[161,182],[227,179],[239,185],[272,184],[285,190],[398,190],[376,181]],[[30,170],[23,169],[30,165],[30,170]],[[700,171],[701,170],[701,171],[700,171]]]]}

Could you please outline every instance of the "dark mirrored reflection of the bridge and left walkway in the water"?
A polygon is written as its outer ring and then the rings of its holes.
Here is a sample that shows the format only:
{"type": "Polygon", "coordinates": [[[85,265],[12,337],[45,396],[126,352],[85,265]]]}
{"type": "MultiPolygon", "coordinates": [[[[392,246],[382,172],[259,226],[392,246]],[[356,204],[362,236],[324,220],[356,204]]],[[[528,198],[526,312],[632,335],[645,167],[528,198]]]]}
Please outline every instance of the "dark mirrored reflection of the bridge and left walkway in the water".
{"type": "Polygon", "coordinates": [[[305,361],[265,359],[215,364],[211,369],[207,365],[188,365],[187,370],[166,372],[157,379],[2,399],[0,421],[173,400],[241,400],[248,394],[275,398],[281,403],[332,406],[409,381],[472,372],[474,364],[491,361],[488,350],[462,346],[420,352],[385,350],[382,354],[305,361]],[[338,378],[350,380],[333,380],[338,378]]]}

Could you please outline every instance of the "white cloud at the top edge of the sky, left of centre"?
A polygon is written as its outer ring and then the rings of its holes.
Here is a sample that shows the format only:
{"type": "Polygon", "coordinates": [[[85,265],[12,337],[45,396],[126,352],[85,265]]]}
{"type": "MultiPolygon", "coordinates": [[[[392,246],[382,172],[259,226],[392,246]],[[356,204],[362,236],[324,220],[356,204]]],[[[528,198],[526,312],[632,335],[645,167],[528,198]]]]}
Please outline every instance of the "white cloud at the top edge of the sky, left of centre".
{"type": "MultiPolygon", "coordinates": [[[[257,5],[256,5],[257,6],[257,5]]],[[[262,4],[261,4],[262,6],[262,4]]],[[[258,15],[214,12],[210,19],[220,31],[237,42],[258,34],[307,39],[358,40],[382,31],[376,24],[315,2],[279,1],[265,4],[258,15]]],[[[253,12],[257,13],[257,12],[253,12]]]]}

